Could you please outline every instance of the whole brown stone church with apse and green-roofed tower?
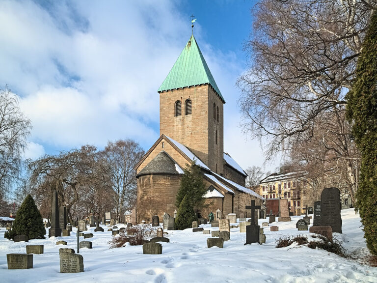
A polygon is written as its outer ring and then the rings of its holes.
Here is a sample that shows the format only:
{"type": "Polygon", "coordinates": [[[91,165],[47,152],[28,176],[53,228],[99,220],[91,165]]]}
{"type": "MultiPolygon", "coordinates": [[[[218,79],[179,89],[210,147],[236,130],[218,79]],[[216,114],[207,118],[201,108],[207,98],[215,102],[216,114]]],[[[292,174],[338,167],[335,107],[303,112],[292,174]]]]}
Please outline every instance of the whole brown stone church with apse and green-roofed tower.
{"type": "MultiPolygon", "coordinates": [[[[149,223],[153,215],[171,216],[181,175],[195,161],[203,173],[210,207],[198,217],[216,218],[228,213],[249,217],[245,205],[263,198],[245,187],[247,174],[224,152],[225,100],[194,36],[173,65],[160,93],[160,138],[136,165],[137,222],[149,223]]],[[[250,214],[250,210],[248,210],[250,214]]]]}

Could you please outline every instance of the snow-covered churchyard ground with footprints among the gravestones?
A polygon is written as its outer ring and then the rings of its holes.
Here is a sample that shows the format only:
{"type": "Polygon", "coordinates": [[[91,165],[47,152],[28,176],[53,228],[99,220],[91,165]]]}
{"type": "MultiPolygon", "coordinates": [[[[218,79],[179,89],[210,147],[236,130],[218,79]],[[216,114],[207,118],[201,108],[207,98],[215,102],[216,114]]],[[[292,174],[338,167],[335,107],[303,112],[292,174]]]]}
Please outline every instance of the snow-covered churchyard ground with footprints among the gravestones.
{"type": "MultiPolygon", "coordinates": [[[[143,255],[142,246],[127,246],[109,249],[111,232],[88,232],[93,238],[93,249],[80,249],[84,259],[84,272],[59,273],[59,248],[73,248],[76,251],[75,229],[70,237],[30,240],[28,243],[4,239],[5,228],[0,229],[0,282],[153,282],[153,283],[312,283],[312,282],[376,282],[377,268],[363,265],[323,250],[308,247],[276,249],[276,240],[285,235],[308,234],[297,231],[296,222],[302,217],[292,217],[292,222],[275,222],[278,232],[264,227],[267,243],[244,246],[245,233],[232,228],[231,239],[224,242],[224,248],[207,248],[206,239],[211,235],[202,232],[168,231],[170,243],[162,244],[162,255],[143,255]],[[67,246],[55,245],[65,240],[67,246]],[[43,255],[33,255],[33,269],[8,270],[6,254],[26,253],[25,246],[44,245],[43,255]]],[[[363,257],[368,254],[360,218],[353,209],[342,210],[343,234],[334,233],[343,240],[349,253],[363,257]]],[[[260,219],[260,225],[266,220],[260,219]]],[[[117,225],[118,228],[122,225],[117,225]]],[[[211,225],[201,225],[215,230],[211,225]]],[[[81,237],[83,240],[83,237],[81,237]]]]}

